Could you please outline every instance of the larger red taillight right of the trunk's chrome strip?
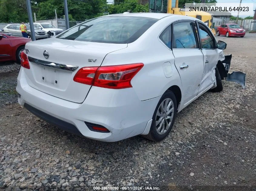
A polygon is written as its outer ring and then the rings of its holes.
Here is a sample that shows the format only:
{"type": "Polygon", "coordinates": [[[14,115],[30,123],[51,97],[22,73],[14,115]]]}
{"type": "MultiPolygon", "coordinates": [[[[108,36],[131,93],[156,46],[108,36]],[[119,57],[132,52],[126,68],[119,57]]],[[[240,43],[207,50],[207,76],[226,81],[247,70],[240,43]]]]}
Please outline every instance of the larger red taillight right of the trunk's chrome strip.
{"type": "Polygon", "coordinates": [[[143,63],[84,67],[75,75],[74,81],[102,88],[131,88],[131,79],[144,66],[143,63]]]}

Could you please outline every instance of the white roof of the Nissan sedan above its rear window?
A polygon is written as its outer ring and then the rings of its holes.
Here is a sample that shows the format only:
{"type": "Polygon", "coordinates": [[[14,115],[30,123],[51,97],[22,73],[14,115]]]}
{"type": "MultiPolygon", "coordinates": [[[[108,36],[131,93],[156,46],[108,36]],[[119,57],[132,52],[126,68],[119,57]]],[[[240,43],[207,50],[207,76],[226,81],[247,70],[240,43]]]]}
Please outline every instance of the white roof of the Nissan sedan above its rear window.
{"type": "Polygon", "coordinates": [[[167,14],[167,13],[120,13],[120,14],[108,14],[103,17],[115,17],[115,16],[132,16],[132,17],[147,17],[147,18],[155,18],[161,19],[164,17],[168,17],[174,14],[167,14]]]}

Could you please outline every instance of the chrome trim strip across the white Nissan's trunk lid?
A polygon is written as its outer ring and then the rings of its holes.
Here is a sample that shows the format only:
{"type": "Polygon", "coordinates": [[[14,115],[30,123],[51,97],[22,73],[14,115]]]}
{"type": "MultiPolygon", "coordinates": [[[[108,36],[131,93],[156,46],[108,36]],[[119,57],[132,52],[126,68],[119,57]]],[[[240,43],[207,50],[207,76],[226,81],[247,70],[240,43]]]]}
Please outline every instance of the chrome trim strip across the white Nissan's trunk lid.
{"type": "Polygon", "coordinates": [[[68,71],[71,71],[71,72],[74,72],[78,68],[78,66],[48,62],[48,61],[44,61],[44,60],[35,59],[35,58],[30,57],[30,56],[28,56],[28,60],[30,62],[33,62],[33,63],[38,64],[38,65],[46,66],[46,67],[49,67],[49,68],[57,68],[57,69],[62,69],[62,70],[68,70],[68,71]]]}

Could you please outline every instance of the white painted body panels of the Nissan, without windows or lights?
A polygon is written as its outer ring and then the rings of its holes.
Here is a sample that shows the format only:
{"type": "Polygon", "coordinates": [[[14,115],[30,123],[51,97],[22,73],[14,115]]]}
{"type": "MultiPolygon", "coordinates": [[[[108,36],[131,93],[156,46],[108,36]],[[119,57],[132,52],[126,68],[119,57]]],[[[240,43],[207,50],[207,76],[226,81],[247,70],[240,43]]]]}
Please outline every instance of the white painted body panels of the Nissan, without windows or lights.
{"type": "MultiPolygon", "coordinates": [[[[123,14],[118,14],[122,15],[123,14]]],[[[21,68],[18,75],[18,102],[28,103],[58,119],[74,124],[82,135],[95,140],[114,142],[149,132],[152,116],[161,95],[171,86],[181,90],[178,111],[199,97],[215,83],[216,64],[222,50],[169,49],[159,40],[161,32],[171,23],[186,19],[181,15],[158,13],[125,14],[160,19],[133,43],[109,44],[50,38],[27,43],[28,56],[36,59],[85,66],[108,66],[144,63],[132,78],[132,88],[108,89],[73,81],[75,73],[45,68],[29,62],[30,69],[21,68]],[[50,54],[43,56],[44,50],[50,54]],[[88,59],[96,59],[88,62],[88,59]],[[210,60],[205,64],[205,60],[210,60]],[[180,69],[181,65],[189,65],[180,69]],[[55,75],[58,84],[43,83],[42,74],[55,75]],[[199,85],[198,85],[199,84],[199,85]],[[93,132],[85,122],[106,127],[110,132],[93,132]]]]}

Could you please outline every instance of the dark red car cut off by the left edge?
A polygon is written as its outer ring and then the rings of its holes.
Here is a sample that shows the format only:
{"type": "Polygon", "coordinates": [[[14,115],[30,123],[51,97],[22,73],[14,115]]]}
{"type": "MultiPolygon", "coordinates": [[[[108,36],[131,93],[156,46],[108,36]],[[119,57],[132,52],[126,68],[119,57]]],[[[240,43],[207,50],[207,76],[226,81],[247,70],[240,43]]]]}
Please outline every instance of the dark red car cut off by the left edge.
{"type": "Polygon", "coordinates": [[[20,62],[20,54],[25,49],[25,44],[31,39],[8,36],[0,32],[0,62],[20,62]]]}

